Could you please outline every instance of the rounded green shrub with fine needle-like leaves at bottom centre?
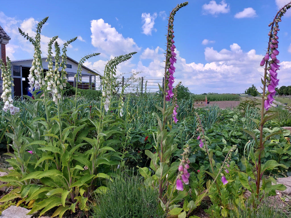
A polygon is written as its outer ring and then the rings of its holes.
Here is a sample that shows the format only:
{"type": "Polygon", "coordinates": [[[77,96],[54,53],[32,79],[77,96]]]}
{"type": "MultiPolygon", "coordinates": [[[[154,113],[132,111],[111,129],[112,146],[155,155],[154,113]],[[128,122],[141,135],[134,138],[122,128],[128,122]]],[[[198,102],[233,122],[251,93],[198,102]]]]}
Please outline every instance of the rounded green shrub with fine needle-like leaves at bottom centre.
{"type": "Polygon", "coordinates": [[[158,212],[157,190],[145,187],[141,178],[123,174],[109,181],[107,187],[96,199],[93,218],[164,217],[158,212]]]}

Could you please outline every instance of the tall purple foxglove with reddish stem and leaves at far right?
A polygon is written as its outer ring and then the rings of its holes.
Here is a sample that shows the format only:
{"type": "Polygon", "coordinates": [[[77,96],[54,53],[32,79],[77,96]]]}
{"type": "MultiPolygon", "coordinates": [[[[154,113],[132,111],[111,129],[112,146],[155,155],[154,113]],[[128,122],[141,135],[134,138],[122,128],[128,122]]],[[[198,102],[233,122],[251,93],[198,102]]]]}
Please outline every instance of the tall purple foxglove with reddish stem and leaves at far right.
{"type": "Polygon", "coordinates": [[[278,49],[278,31],[279,22],[281,22],[281,18],[286,13],[286,11],[291,7],[291,2],[283,6],[275,15],[273,21],[269,24],[271,27],[268,35],[269,42],[268,48],[265,57],[262,59],[260,66],[264,66],[265,72],[262,78],[262,108],[261,108],[261,119],[260,121],[257,119],[252,119],[258,126],[259,135],[255,132],[251,132],[248,130],[244,131],[249,133],[255,143],[258,146],[258,149],[254,152],[251,150],[251,159],[255,164],[254,170],[252,170],[251,165],[246,161],[246,158],[242,158],[242,163],[246,166],[246,173],[239,172],[239,178],[242,182],[242,185],[246,187],[250,192],[252,192],[253,206],[257,206],[258,203],[263,199],[264,195],[275,194],[275,190],[284,190],[285,187],[283,185],[272,185],[272,182],[276,184],[274,179],[263,178],[263,174],[266,170],[272,170],[275,167],[281,166],[287,168],[284,164],[279,164],[275,160],[268,160],[264,164],[262,163],[262,158],[265,156],[265,145],[269,143],[269,140],[272,136],[282,134],[281,132],[273,132],[270,134],[264,134],[264,125],[266,121],[273,119],[276,117],[276,114],[269,111],[271,107],[270,104],[274,101],[274,95],[276,93],[275,87],[278,85],[279,79],[277,79],[278,69],[280,62],[277,59],[279,54],[278,49]],[[271,60],[269,60],[271,58],[271,60]],[[269,65],[269,66],[268,66],[269,65]],[[255,180],[255,184],[251,183],[248,177],[251,177],[255,180]],[[261,185],[262,181],[262,185],[261,185]],[[265,192],[262,192],[265,191],[265,192]]]}

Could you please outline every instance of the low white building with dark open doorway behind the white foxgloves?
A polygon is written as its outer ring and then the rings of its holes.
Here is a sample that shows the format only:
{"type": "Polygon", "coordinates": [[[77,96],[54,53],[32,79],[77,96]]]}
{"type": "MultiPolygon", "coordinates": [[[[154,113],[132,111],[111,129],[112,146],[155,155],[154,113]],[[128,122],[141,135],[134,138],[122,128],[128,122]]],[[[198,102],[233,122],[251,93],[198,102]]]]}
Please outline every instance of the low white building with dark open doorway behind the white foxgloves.
{"type": "MultiPolygon", "coordinates": [[[[45,62],[47,58],[42,58],[42,67],[44,72],[48,71],[48,62],[45,62]]],[[[53,63],[55,64],[54,57],[53,63]]],[[[12,60],[11,61],[11,73],[13,76],[13,83],[14,87],[12,92],[14,96],[22,97],[22,95],[28,94],[28,75],[29,69],[32,66],[33,59],[24,59],[24,60],[12,60]]],[[[70,57],[67,57],[67,68],[66,72],[68,73],[68,82],[76,87],[76,78],[74,77],[78,71],[78,64],[79,62],[73,60],[70,57]]],[[[78,83],[78,88],[81,89],[98,89],[99,87],[95,87],[96,82],[100,84],[100,75],[94,72],[93,70],[89,69],[88,67],[81,66],[82,69],[82,83],[78,83]]],[[[60,68],[61,70],[61,68],[60,68]]]]}

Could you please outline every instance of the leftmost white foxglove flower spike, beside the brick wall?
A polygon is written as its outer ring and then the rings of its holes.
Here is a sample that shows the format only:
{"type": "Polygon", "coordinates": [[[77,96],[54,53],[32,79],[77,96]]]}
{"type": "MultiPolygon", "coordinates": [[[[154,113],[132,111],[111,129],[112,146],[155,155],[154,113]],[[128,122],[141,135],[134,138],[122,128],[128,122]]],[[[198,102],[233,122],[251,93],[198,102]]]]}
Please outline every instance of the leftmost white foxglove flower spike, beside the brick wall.
{"type": "Polygon", "coordinates": [[[7,66],[5,67],[2,59],[0,59],[0,68],[2,71],[2,79],[3,79],[3,84],[2,84],[2,91],[3,93],[1,94],[1,98],[4,102],[4,107],[3,111],[7,112],[8,110],[10,111],[11,115],[14,115],[16,112],[19,112],[19,108],[13,106],[13,99],[12,99],[12,86],[13,84],[13,78],[11,76],[11,62],[9,58],[6,58],[7,66]]]}

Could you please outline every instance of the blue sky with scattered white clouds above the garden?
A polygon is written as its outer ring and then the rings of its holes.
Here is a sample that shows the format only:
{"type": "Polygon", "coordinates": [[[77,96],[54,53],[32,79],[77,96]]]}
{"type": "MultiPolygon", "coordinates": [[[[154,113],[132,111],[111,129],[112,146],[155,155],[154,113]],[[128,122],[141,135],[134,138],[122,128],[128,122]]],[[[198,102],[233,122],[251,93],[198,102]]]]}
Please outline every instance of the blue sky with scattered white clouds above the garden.
{"type": "MultiPolygon", "coordinates": [[[[11,37],[6,55],[11,60],[33,56],[33,47],[18,27],[33,36],[36,24],[49,17],[42,28],[42,53],[55,35],[59,43],[78,36],[67,55],[79,61],[100,52],[85,65],[100,73],[107,60],[137,51],[119,65],[118,73],[139,72],[146,79],[162,78],[166,26],[176,0],[148,1],[6,1],[0,9],[0,26],[11,37]]],[[[267,48],[268,24],[286,0],[190,0],[175,15],[177,53],[175,83],[182,81],[194,94],[242,93],[254,84],[260,91],[260,61],[267,48]]],[[[291,9],[279,23],[279,87],[291,85],[291,9]]],[[[127,74],[126,74],[127,75],[127,74]]]]}

